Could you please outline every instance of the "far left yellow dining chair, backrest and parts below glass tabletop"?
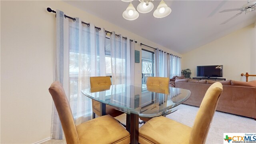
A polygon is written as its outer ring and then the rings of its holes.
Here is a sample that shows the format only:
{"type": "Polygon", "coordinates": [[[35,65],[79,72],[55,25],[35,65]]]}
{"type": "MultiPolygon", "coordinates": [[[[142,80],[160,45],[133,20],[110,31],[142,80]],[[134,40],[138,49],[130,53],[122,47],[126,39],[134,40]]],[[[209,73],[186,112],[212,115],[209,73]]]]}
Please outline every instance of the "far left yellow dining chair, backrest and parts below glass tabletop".
{"type": "MultiPolygon", "coordinates": [[[[111,86],[111,80],[109,76],[93,76],[90,77],[91,88],[102,87],[102,86],[111,86]]],[[[93,118],[95,114],[100,115],[100,102],[92,99],[92,112],[93,118]]],[[[116,110],[116,107],[106,105],[106,115],[110,114],[113,117],[123,114],[123,112],[116,110]]]]}

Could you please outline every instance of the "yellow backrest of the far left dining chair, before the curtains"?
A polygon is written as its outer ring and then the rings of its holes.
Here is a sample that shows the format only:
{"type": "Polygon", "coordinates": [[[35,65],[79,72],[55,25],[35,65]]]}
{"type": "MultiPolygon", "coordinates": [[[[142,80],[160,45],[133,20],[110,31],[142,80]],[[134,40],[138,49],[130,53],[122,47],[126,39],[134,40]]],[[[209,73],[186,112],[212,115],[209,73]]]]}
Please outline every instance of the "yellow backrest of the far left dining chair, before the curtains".
{"type": "Polygon", "coordinates": [[[92,76],[90,77],[91,88],[101,86],[111,86],[110,76],[92,76]]]}

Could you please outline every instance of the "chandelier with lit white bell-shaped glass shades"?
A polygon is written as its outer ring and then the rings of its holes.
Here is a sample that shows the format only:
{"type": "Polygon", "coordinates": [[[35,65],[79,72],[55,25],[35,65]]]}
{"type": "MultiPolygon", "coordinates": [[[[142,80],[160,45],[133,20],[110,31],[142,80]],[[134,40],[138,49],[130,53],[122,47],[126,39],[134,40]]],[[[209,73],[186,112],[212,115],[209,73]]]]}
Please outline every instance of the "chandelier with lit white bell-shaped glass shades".
{"type": "MultiPolygon", "coordinates": [[[[137,6],[137,10],[132,5],[133,0],[122,0],[123,2],[130,2],[129,6],[123,12],[123,17],[126,20],[136,20],[139,17],[139,13],[148,13],[154,8],[154,4],[151,1],[154,0],[139,0],[140,4],[137,6]]],[[[153,13],[155,18],[164,18],[172,12],[171,8],[165,4],[164,0],[161,0],[160,4],[153,13]]]]}

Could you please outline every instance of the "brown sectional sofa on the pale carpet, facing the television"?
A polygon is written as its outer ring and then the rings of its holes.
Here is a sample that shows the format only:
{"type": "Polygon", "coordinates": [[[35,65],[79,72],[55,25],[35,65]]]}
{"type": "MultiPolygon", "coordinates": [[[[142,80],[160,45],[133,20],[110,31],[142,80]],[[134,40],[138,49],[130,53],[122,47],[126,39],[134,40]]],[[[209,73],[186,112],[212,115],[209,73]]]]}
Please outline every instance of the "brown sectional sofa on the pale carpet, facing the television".
{"type": "MultiPolygon", "coordinates": [[[[216,81],[176,79],[175,82],[170,81],[169,86],[190,90],[190,98],[188,98],[184,104],[199,107],[204,98],[204,94],[214,82],[216,81]]],[[[223,92],[216,110],[246,116],[256,120],[256,80],[251,82],[238,82],[233,80],[219,82],[223,85],[223,92]]]]}

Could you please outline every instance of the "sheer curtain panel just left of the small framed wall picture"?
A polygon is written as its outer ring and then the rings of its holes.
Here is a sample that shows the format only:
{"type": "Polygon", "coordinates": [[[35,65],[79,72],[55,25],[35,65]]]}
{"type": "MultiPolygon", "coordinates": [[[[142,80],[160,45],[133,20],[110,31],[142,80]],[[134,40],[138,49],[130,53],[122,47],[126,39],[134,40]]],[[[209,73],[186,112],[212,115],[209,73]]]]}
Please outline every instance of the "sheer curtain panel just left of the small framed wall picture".
{"type": "Polygon", "coordinates": [[[134,85],[134,42],[112,32],[110,49],[112,84],[134,85]]]}

